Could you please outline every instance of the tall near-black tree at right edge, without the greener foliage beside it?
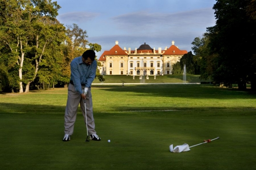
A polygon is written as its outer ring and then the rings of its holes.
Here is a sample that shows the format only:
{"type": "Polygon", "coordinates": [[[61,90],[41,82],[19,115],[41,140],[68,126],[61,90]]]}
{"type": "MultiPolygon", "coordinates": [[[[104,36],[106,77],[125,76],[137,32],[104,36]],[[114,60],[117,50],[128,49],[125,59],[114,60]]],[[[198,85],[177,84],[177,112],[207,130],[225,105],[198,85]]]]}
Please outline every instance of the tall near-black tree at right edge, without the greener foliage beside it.
{"type": "Polygon", "coordinates": [[[217,82],[238,83],[246,88],[256,72],[252,65],[256,54],[256,20],[248,14],[254,0],[217,0],[213,9],[217,19],[214,27],[207,28],[210,54],[216,69],[212,77],[217,82]]]}

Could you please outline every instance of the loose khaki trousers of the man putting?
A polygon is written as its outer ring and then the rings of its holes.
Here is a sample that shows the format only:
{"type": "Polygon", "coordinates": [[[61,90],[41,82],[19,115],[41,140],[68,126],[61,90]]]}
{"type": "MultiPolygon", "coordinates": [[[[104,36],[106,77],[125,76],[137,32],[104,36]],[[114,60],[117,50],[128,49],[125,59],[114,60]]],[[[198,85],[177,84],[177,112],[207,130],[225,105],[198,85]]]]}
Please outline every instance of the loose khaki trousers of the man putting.
{"type": "MultiPolygon", "coordinates": [[[[84,86],[82,86],[82,88],[84,88],[84,86]]],[[[74,124],[77,118],[77,108],[79,103],[84,116],[84,122],[86,123],[84,99],[82,99],[81,95],[75,90],[74,85],[69,84],[67,105],[66,105],[65,116],[64,116],[64,119],[65,119],[64,133],[65,134],[72,135],[74,132],[74,124]]],[[[92,111],[91,88],[89,88],[88,93],[86,95],[85,104],[86,104],[88,135],[96,134],[95,122],[94,122],[93,111],[92,111]]]]}

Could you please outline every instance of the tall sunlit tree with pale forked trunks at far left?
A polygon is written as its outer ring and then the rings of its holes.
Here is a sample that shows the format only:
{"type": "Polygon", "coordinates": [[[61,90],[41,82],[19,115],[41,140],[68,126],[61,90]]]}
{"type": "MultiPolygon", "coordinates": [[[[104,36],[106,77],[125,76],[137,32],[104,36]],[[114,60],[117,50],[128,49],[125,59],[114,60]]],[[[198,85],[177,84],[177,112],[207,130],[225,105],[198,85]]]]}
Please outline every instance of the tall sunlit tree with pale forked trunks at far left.
{"type": "MultiPolygon", "coordinates": [[[[43,54],[61,37],[65,30],[56,20],[60,6],[51,0],[9,0],[4,3],[3,25],[0,26],[1,43],[16,59],[20,78],[20,92],[29,91],[35,80],[43,54]]],[[[3,12],[2,12],[3,13],[3,12]]]]}

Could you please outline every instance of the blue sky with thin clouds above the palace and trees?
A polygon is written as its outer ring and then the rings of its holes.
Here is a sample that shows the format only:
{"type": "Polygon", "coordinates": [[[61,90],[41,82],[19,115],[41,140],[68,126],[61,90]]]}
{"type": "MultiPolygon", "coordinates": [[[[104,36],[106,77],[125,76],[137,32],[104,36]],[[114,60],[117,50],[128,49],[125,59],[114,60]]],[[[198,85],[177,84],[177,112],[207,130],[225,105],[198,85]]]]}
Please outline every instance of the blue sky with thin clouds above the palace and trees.
{"type": "Polygon", "coordinates": [[[119,46],[135,50],[141,44],[151,48],[170,47],[192,51],[191,43],[207,27],[215,25],[216,0],[53,0],[61,6],[57,19],[77,24],[87,31],[88,41],[110,50],[119,46]]]}

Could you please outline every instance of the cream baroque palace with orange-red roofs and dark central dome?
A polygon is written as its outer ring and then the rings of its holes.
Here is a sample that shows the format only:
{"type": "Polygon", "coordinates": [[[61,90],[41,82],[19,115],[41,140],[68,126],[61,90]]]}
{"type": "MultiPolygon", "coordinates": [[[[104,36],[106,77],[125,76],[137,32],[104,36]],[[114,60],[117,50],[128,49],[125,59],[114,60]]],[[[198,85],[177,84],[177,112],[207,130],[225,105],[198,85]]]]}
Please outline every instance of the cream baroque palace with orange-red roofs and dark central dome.
{"type": "Polygon", "coordinates": [[[116,45],[109,51],[104,51],[98,61],[101,63],[101,75],[169,75],[172,74],[172,65],[187,54],[186,50],[180,50],[172,45],[164,50],[151,48],[144,43],[135,50],[122,49],[116,41],[116,45]]]}

